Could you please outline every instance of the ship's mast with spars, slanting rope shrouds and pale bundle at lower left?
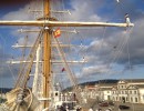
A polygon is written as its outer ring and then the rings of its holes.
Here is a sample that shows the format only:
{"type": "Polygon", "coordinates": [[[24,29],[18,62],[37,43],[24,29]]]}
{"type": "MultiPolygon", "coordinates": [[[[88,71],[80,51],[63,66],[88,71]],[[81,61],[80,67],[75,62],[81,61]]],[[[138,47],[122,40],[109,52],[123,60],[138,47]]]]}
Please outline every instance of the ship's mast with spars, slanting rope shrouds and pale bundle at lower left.
{"type": "MultiPolygon", "coordinates": [[[[35,111],[39,107],[38,104],[41,103],[41,110],[47,111],[50,110],[50,105],[52,102],[51,97],[51,82],[52,82],[52,63],[54,61],[52,60],[52,47],[55,47],[58,50],[58,53],[61,58],[61,61],[55,61],[55,63],[63,63],[64,69],[63,71],[66,71],[70,81],[73,85],[74,93],[76,93],[78,102],[80,103],[82,100],[82,97],[79,93],[79,87],[78,87],[78,80],[73,72],[71,71],[69,63],[74,63],[74,61],[66,61],[66,58],[64,56],[64,52],[62,48],[64,44],[61,44],[59,41],[59,38],[54,36],[54,32],[56,31],[56,28],[68,28],[68,27],[120,27],[120,28],[127,28],[127,27],[134,27],[133,23],[130,22],[130,18],[126,16],[126,22],[124,23],[111,23],[111,22],[78,22],[78,21],[59,21],[56,18],[51,17],[52,11],[50,8],[50,1],[51,0],[43,0],[43,17],[38,18],[37,20],[31,21],[21,21],[21,20],[3,20],[0,21],[0,26],[27,26],[27,27],[39,27],[41,30],[38,30],[39,32],[38,38],[35,39],[33,46],[27,46],[27,42],[24,46],[19,46],[19,48],[29,47],[31,48],[31,51],[24,61],[23,59],[21,61],[18,61],[22,64],[20,68],[19,77],[17,79],[14,89],[7,93],[8,101],[3,105],[3,111],[35,111]],[[55,44],[52,44],[52,41],[55,44]],[[41,47],[42,46],[42,47],[41,47]],[[42,58],[43,60],[40,61],[40,49],[42,49],[42,58]],[[37,58],[37,59],[35,59],[37,58]],[[32,91],[28,88],[28,81],[30,79],[31,68],[33,63],[35,62],[37,68],[39,67],[39,63],[42,64],[42,98],[39,99],[35,94],[37,92],[37,83],[38,83],[38,75],[34,75],[33,80],[33,89],[32,91]],[[42,102],[40,102],[40,101],[42,102]]],[[[61,13],[62,11],[56,11],[58,13],[61,13]]],[[[70,11],[65,11],[70,13],[70,11]]],[[[60,30],[59,30],[60,31],[60,30]]],[[[34,31],[33,31],[34,32],[34,31]]],[[[75,31],[73,31],[75,32],[75,31]]],[[[56,34],[60,34],[61,32],[58,32],[56,34]]],[[[59,37],[59,36],[58,36],[59,37]]],[[[16,46],[18,47],[18,46],[16,46]]],[[[66,47],[66,46],[65,46],[66,47]]],[[[76,61],[75,61],[76,62],[76,61]]],[[[82,61],[83,62],[83,61],[82,61]]],[[[37,69],[38,70],[38,69],[37,69]]]]}

